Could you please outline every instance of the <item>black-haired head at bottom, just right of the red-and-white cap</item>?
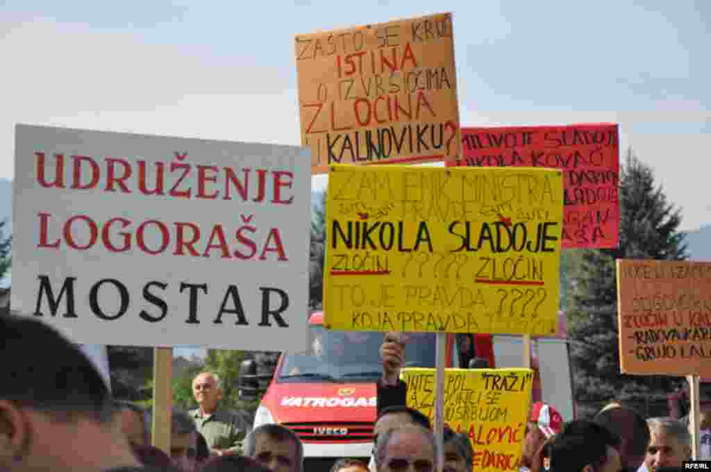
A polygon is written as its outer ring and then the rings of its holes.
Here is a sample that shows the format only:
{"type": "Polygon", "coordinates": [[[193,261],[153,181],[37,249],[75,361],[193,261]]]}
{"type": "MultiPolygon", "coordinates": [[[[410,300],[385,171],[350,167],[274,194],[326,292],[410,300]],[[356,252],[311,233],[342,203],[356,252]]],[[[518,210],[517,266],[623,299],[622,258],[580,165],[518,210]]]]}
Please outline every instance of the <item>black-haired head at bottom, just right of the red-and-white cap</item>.
{"type": "Polygon", "coordinates": [[[547,443],[552,472],[617,472],[620,439],[609,429],[582,419],[565,425],[547,443]]]}

